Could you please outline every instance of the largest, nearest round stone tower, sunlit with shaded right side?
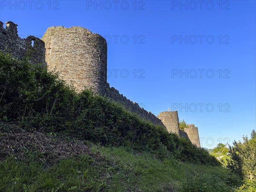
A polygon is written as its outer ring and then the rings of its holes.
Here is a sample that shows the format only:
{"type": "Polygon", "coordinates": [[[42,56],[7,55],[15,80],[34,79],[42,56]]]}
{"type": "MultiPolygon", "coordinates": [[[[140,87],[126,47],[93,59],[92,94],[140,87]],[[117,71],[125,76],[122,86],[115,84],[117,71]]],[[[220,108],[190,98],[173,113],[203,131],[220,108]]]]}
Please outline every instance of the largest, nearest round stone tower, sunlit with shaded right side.
{"type": "Polygon", "coordinates": [[[84,87],[105,94],[107,85],[107,42],[99,34],[83,27],[49,27],[45,42],[45,61],[78,92],[84,87]]]}

